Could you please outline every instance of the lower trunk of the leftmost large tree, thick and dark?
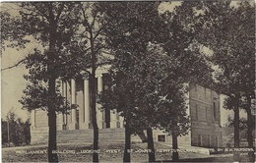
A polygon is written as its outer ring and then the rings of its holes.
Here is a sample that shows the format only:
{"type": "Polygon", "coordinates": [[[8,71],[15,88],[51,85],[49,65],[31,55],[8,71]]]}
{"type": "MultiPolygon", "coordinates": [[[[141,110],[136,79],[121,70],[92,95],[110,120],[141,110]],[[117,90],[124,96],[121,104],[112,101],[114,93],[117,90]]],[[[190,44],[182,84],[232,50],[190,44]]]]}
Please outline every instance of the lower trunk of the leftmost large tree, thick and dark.
{"type": "MultiPolygon", "coordinates": [[[[49,79],[49,94],[55,92],[55,79],[49,79]]],[[[48,127],[49,127],[49,141],[48,141],[48,161],[58,162],[58,155],[52,153],[53,150],[57,150],[57,128],[56,128],[56,112],[53,103],[48,103],[48,127]]]]}

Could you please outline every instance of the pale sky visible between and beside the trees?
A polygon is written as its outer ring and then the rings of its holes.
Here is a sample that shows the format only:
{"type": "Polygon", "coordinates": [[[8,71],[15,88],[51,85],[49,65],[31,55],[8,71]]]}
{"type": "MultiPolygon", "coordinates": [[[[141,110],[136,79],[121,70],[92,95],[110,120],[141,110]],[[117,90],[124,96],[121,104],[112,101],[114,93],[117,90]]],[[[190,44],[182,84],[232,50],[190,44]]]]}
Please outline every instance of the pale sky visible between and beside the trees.
{"type": "MultiPolygon", "coordinates": [[[[173,11],[175,6],[180,5],[181,2],[162,3],[160,10],[173,11]]],[[[1,4],[2,7],[3,4],[1,4]]],[[[10,3],[8,4],[10,6],[10,3]]],[[[12,11],[16,14],[17,11],[12,11]]],[[[38,47],[39,44],[32,41],[27,44],[25,49],[16,50],[14,48],[6,48],[2,52],[1,57],[1,69],[15,65],[20,60],[24,59],[34,47],[38,47]]],[[[8,111],[15,112],[18,117],[23,121],[28,119],[28,112],[22,109],[22,104],[19,102],[23,95],[23,90],[26,88],[27,81],[23,78],[28,74],[28,70],[25,65],[19,65],[18,67],[1,71],[1,117],[4,119],[7,116],[8,111]]],[[[224,100],[222,96],[221,100],[224,100]]],[[[230,111],[221,109],[222,125],[226,122],[227,115],[232,114],[230,111]]]]}

